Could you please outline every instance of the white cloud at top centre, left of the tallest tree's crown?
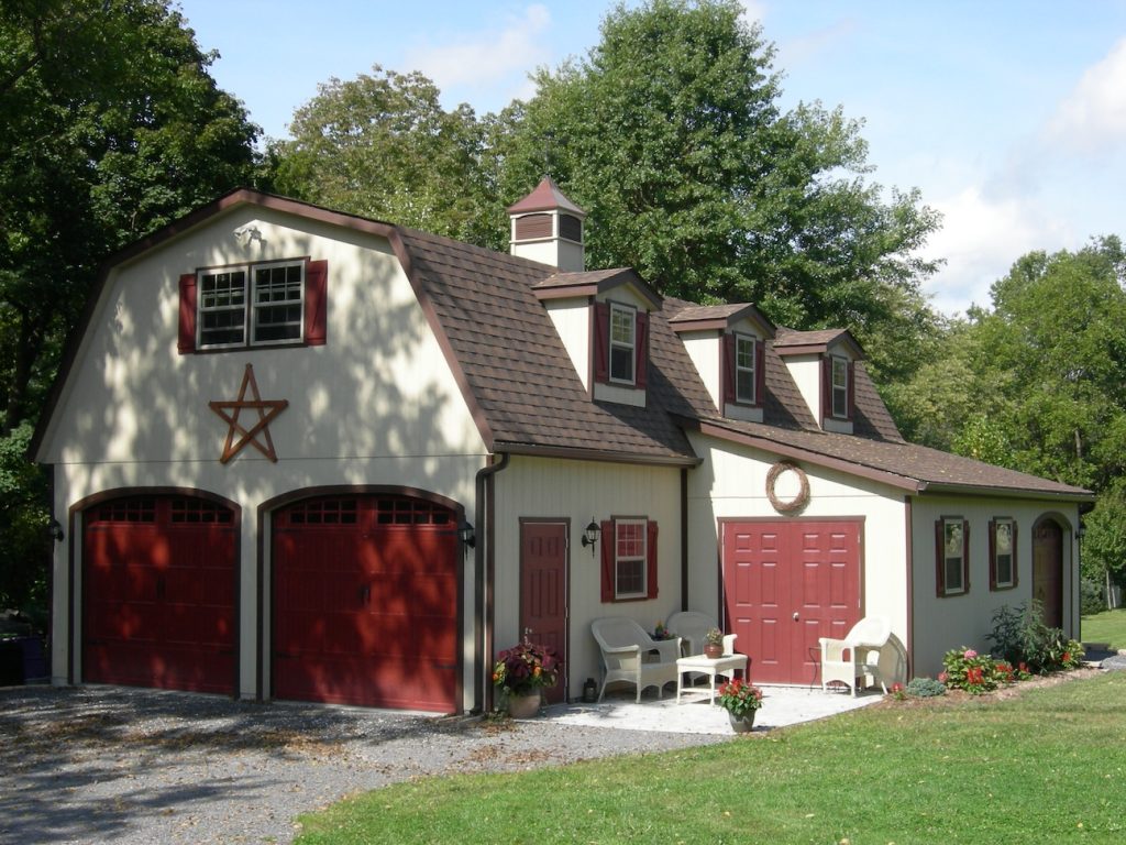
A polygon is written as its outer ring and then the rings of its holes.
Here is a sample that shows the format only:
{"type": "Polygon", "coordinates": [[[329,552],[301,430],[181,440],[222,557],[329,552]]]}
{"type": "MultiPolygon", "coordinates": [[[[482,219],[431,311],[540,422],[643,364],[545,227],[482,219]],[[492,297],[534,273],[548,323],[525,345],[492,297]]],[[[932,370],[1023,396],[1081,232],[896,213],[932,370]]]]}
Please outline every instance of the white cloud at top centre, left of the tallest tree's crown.
{"type": "Polygon", "coordinates": [[[527,90],[527,72],[549,59],[543,44],[549,25],[547,7],[535,3],[499,30],[482,29],[454,43],[415,48],[406,53],[405,62],[443,91],[501,83],[527,90]],[[519,81],[513,82],[513,77],[519,81]]]}

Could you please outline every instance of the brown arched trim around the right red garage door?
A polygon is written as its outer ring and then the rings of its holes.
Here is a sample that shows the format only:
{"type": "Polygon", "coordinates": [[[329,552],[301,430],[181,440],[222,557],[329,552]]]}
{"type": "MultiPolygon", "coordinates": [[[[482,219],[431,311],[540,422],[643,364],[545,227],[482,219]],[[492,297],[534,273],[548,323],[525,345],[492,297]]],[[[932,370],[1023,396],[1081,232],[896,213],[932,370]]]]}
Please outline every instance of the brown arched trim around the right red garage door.
{"type": "MultiPolygon", "coordinates": [[[[277,632],[277,619],[276,619],[276,606],[275,606],[275,589],[276,585],[274,579],[276,577],[276,550],[270,548],[267,552],[265,548],[267,536],[272,539],[275,536],[276,525],[274,525],[272,516],[285,508],[297,505],[302,501],[323,499],[323,498],[336,498],[336,497],[356,497],[356,498],[377,498],[379,496],[396,497],[413,499],[419,502],[425,502],[429,505],[435,505],[440,508],[448,509],[452,514],[452,521],[449,525],[450,536],[456,540],[457,526],[461,525],[465,519],[465,508],[464,506],[450,499],[447,496],[432,492],[430,490],[422,490],[414,487],[405,487],[401,484],[327,484],[319,487],[307,487],[298,490],[291,490],[280,496],[276,496],[271,499],[263,501],[258,508],[258,619],[267,620],[269,619],[269,631],[270,638],[276,638],[277,632]],[[268,570],[268,571],[267,571],[268,570]],[[267,577],[268,576],[268,577],[267,577]]],[[[461,550],[464,551],[464,550],[461,550]]],[[[464,569],[464,558],[456,562],[456,634],[458,640],[461,640],[462,632],[464,629],[463,619],[463,604],[464,604],[464,590],[465,590],[465,569],[464,569]]],[[[272,660],[272,649],[270,643],[266,639],[266,625],[258,625],[258,641],[257,641],[257,696],[259,700],[265,700],[270,695],[270,691],[266,688],[266,673],[265,667],[270,666],[270,686],[275,687],[276,678],[274,677],[274,660],[272,660]]],[[[457,668],[455,670],[456,677],[456,691],[455,700],[461,702],[462,700],[462,648],[457,648],[457,668]]]]}

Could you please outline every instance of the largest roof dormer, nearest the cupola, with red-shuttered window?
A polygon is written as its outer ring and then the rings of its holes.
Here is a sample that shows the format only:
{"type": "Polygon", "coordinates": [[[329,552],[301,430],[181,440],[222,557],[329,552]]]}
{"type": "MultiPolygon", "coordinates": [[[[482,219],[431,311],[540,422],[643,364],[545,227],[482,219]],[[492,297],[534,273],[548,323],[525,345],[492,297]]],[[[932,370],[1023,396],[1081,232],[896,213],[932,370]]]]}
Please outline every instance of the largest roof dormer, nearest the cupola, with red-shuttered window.
{"type": "Polygon", "coordinates": [[[645,407],[649,315],[661,297],[628,267],[556,273],[533,287],[591,398],[645,407]]]}

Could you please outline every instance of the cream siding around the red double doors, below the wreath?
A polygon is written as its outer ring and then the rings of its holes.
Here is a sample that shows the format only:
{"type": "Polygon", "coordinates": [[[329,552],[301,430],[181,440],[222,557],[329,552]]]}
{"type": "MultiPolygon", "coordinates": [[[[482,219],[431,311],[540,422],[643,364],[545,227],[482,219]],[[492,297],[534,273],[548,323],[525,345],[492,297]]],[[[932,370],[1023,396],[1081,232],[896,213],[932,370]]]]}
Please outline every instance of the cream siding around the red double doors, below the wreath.
{"type": "Polygon", "coordinates": [[[901,492],[798,461],[810,481],[810,504],[799,514],[784,515],[766,493],[766,477],[777,455],[703,435],[692,435],[691,441],[704,463],[688,475],[690,610],[712,615],[720,611],[721,518],[860,519],[864,613],[886,616],[908,642],[906,517],[901,492]]]}

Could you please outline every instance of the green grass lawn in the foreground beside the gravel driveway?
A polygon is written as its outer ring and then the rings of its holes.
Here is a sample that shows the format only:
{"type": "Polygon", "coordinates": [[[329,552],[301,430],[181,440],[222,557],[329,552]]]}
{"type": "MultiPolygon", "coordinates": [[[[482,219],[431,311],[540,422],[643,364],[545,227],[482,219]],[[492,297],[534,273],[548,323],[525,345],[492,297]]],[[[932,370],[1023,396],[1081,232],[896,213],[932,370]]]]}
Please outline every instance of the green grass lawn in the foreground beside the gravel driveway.
{"type": "Polygon", "coordinates": [[[888,702],[731,742],[403,783],[303,816],[318,843],[1120,843],[1126,673],[888,702]]]}

